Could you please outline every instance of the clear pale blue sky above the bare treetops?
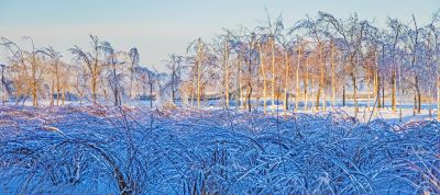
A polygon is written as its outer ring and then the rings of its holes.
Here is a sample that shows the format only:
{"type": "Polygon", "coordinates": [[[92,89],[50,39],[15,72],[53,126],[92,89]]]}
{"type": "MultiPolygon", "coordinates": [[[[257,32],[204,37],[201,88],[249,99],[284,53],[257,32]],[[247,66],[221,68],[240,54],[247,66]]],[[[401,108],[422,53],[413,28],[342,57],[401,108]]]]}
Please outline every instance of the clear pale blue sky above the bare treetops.
{"type": "MultiPolygon", "coordinates": [[[[170,53],[185,54],[197,37],[211,39],[222,27],[253,27],[283,14],[292,26],[318,11],[360,18],[383,25],[387,16],[409,21],[414,13],[427,23],[440,9],[440,0],[0,0],[0,36],[18,41],[33,37],[38,47],[54,46],[70,59],[67,49],[88,46],[88,34],[109,41],[113,47],[140,49],[141,64],[164,70],[170,53]]],[[[4,61],[0,53],[0,62],[4,61]]]]}

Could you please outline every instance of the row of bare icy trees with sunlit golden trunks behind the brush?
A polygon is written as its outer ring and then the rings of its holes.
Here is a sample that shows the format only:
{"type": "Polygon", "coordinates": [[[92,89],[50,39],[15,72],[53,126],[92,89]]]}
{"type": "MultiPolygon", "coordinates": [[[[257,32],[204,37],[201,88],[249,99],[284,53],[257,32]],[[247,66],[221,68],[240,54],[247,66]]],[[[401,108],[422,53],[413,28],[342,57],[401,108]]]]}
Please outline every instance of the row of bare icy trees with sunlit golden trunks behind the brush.
{"type": "Polygon", "coordinates": [[[187,54],[169,55],[167,73],[140,66],[138,49],[120,51],[90,35],[89,47],[68,49],[62,60],[53,47],[40,47],[31,37],[20,47],[7,37],[1,46],[9,61],[2,65],[1,96],[16,104],[28,99],[63,105],[66,99],[121,105],[135,100],[180,102],[197,108],[207,100],[219,106],[252,111],[326,110],[359,99],[366,108],[410,99],[415,113],[421,103],[440,104],[439,13],[429,24],[388,19],[386,25],[352,14],[337,19],[319,12],[298,21],[267,16],[261,26],[224,28],[212,41],[200,38],[187,54]],[[262,103],[255,103],[263,101],[262,103]],[[288,107],[292,105],[292,107],[288,107]]]}

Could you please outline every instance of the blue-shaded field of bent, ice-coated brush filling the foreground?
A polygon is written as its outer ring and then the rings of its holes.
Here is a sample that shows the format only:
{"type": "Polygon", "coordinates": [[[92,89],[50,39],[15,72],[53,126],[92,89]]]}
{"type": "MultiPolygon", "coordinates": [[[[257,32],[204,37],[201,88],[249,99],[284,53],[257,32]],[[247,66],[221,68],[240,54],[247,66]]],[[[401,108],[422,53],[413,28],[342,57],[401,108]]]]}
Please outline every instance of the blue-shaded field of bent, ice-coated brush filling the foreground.
{"type": "Polygon", "coordinates": [[[0,194],[440,193],[440,123],[346,111],[2,106],[0,194]]]}

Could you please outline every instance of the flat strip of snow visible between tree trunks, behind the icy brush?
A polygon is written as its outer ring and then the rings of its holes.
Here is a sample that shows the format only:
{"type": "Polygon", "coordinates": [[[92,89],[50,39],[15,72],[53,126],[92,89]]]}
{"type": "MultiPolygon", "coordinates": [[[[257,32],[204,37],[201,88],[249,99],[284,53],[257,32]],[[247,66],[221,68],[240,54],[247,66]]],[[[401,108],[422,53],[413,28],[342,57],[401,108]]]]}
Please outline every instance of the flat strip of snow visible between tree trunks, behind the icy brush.
{"type": "MultiPolygon", "coordinates": [[[[305,102],[304,100],[298,101],[298,108],[294,111],[295,107],[295,102],[290,100],[289,102],[289,108],[286,114],[292,115],[294,112],[295,113],[307,113],[307,114],[316,114],[316,113],[330,113],[330,112],[338,112],[338,113],[346,113],[350,116],[354,116],[354,106],[353,102],[351,100],[346,101],[345,106],[342,106],[342,101],[337,101],[336,106],[333,107],[331,105],[331,102],[327,102],[327,110],[322,110],[322,102],[320,103],[320,111],[314,110],[315,105],[312,101],[308,101],[308,106],[307,110],[305,108],[305,102]]],[[[123,101],[124,105],[133,106],[133,107],[148,107],[150,106],[150,101],[144,100],[144,101],[139,101],[139,100],[124,100],[123,101]]],[[[166,101],[153,101],[153,107],[163,107],[164,104],[167,104],[168,102],[166,101]]],[[[411,100],[405,100],[402,103],[398,102],[397,105],[397,111],[393,112],[391,105],[388,104],[389,102],[387,101],[385,104],[384,108],[375,108],[373,110],[374,106],[374,100],[370,100],[370,102],[366,99],[360,99],[359,100],[359,113],[356,115],[356,118],[359,119],[360,123],[367,123],[369,121],[372,119],[383,119],[386,121],[388,124],[403,124],[403,123],[408,123],[408,122],[416,122],[416,121],[433,121],[437,119],[437,104],[436,103],[424,103],[421,104],[421,111],[420,113],[415,113],[414,112],[414,105],[411,100]],[[431,107],[431,111],[429,111],[429,107],[431,107]],[[402,114],[402,116],[400,116],[402,114]]],[[[112,102],[103,102],[101,101],[101,104],[103,105],[112,105],[112,102]]],[[[183,102],[176,102],[176,105],[179,107],[184,108],[189,108],[189,110],[195,110],[197,108],[196,102],[194,102],[195,105],[189,105],[189,102],[183,103],[183,102]]],[[[243,104],[243,103],[242,103],[243,104]]],[[[272,101],[267,100],[267,114],[270,115],[276,115],[276,114],[282,114],[284,115],[284,106],[283,106],[283,101],[276,101],[274,105],[271,105],[272,101]]],[[[15,105],[15,102],[11,101],[8,102],[6,105],[8,106],[13,106],[15,105]]],[[[21,106],[32,106],[32,101],[25,101],[24,103],[21,102],[19,103],[21,106]]],[[[38,105],[43,107],[50,106],[50,101],[48,100],[40,100],[38,105]]],[[[90,102],[78,102],[78,101],[65,101],[65,105],[69,106],[90,106],[92,103],[90,102]]],[[[210,100],[210,101],[202,101],[201,102],[201,110],[223,110],[224,108],[224,100],[210,100]]],[[[230,101],[230,108],[237,112],[245,112],[245,107],[243,105],[238,106],[238,103],[234,100],[230,101]]],[[[256,102],[255,100],[252,101],[252,111],[258,111],[263,112],[263,101],[261,100],[260,102],[256,102]]]]}

